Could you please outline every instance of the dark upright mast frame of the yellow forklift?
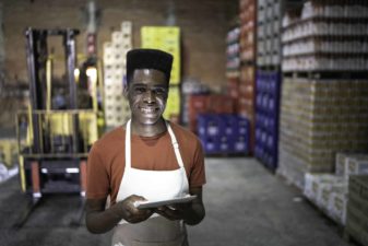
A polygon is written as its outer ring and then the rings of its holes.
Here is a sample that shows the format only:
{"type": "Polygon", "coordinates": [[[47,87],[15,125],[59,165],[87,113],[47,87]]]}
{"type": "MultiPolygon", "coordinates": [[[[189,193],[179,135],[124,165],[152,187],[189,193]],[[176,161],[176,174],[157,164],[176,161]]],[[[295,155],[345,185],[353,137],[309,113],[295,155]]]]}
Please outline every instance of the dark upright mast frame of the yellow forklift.
{"type": "MultiPolygon", "coordinates": [[[[75,55],[75,36],[79,34],[78,30],[34,30],[28,27],[26,35],[26,55],[29,78],[29,99],[32,110],[45,110],[46,96],[46,62],[48,59],[47,37],[61,35],[66,50],[66,68],[69,81],[69,109],[76,109],[76,85],[74,80],[74,69],[76,62],[75,55]]],[[[78,129],[78,119],[73,117],[74,129],[78,129]]],[[[43,153],[44,145],[39,139],[37,126],[39,126],[39,117],[33,115],[32,126],[34,132],[33,152],[43,153]]],[[[79,151],[79,134],[73,136],[73,151],[79,151]]]]}

